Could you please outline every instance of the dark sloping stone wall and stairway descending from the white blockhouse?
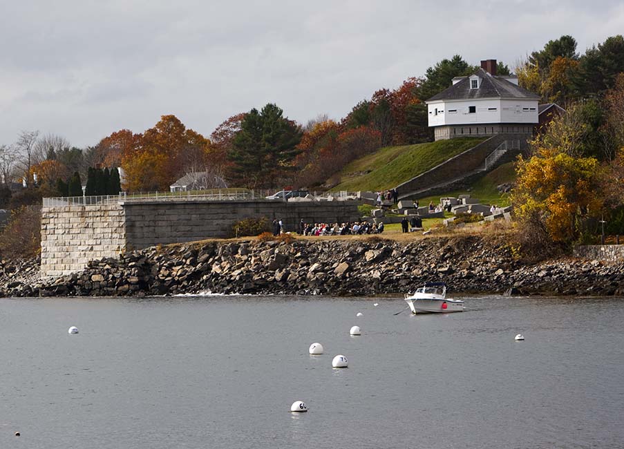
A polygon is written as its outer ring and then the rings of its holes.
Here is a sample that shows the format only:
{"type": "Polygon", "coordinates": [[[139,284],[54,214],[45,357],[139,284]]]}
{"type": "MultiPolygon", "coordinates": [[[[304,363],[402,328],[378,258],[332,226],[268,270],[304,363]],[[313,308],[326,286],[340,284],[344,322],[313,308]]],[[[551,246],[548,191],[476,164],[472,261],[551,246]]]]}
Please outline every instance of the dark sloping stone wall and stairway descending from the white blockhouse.
{"type": "Polygon", "coordinates": [[[512,158],[515,157],[526,146],[526,136],[522,138],[522,135],[500,134],[490,137],[488,140],[473,146],[473,148],[433,167],[433,169],[399,184],[396,187],[399,200],[422,198],[451,190],[462,182],[469,182],[503,162],[508,162],[510,155],[512,158]],[[507,151],[497,152],[505,142],[507,142],[507,151]],[[517,142],[520,144],[518,145],[517,142]],[[491,160],[486,164],[489,157],[491,160]]]}

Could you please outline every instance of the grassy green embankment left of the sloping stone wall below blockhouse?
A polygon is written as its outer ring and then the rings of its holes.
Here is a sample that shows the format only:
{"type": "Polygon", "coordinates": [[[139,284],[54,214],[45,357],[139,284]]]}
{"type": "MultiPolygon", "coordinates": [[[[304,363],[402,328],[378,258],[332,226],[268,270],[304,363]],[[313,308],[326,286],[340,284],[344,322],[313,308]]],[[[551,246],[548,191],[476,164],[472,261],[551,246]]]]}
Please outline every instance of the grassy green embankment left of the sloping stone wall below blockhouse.
{"type": "Polygon", "coordinates": [[[426,144],[386,146],[348,164],[337,175],[339,184],[332,191],[393,189],[483,140],[465,137],[426,144]]]}

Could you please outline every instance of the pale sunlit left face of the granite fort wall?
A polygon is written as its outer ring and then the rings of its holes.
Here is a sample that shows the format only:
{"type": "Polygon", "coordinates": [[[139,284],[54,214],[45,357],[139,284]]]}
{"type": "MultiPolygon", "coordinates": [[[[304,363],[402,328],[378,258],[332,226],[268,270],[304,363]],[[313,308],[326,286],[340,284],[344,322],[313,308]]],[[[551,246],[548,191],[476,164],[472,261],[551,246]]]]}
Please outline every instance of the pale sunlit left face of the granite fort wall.
{"type": "Polygon", "coordinates": [[[89,260],[117,257],[126,245],[119,204],[44,207],[41,210],[41,276],[62,276],[89,260]]]}

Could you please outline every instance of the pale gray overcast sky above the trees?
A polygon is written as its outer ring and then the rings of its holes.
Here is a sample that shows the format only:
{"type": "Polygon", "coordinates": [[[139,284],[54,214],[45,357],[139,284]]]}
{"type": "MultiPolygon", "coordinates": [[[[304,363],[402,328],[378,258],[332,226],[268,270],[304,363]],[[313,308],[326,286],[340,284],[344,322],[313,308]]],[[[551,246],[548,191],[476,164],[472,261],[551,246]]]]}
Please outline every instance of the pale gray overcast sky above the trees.
{"type": "Polygon", "coordinates": [[[583,52],[624,32],[616,0],[0,3],[0,144],[36,129],[94,145],[164,114],[208,136],[267,102],[339,119],[445,57],[513,67],[564,34],[583,52]]]}

